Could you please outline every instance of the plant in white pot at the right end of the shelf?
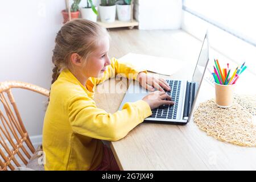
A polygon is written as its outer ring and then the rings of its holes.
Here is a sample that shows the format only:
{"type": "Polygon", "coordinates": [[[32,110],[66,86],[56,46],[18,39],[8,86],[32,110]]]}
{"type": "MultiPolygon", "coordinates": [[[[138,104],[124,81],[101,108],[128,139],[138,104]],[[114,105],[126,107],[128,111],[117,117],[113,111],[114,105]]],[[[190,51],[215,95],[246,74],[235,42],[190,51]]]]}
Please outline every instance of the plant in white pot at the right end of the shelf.
{"type": "Polygon", "coordinates": [[[119,21],[128,22],[131,20],[131,0],[117,2],[117,17],[119,21]]]}

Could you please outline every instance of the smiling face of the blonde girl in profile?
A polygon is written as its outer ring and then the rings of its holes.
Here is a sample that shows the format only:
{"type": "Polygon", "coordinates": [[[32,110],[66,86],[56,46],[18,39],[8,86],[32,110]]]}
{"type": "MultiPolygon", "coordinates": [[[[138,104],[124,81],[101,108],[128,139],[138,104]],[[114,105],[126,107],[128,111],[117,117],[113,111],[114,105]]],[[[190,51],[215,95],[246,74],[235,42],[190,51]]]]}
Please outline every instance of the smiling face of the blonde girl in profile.
{"type": "Polygon", "coordinates": [[[102,77],[106,67],[110,65],[109,38],[105,36],[96,50],[88,57],[87,63],[83,68],[86,77],[102,77]]]}

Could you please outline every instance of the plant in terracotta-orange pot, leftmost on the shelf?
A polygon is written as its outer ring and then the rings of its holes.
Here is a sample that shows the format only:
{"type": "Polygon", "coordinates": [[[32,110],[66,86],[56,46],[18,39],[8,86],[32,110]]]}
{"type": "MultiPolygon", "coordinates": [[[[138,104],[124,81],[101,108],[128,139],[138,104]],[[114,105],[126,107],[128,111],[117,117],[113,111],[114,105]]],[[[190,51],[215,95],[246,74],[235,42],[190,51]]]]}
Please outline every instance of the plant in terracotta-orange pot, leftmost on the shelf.
{"type": "MultiPolygon", "coordinates": [[[[66,23],[68,22],[69,20],[69,16],[68,16],[68,1],[66,1],[66,7],[67,9],[65,10],[62,10],[61,13],[63,15],[63,19],[64,19],[64,22],[63,23],[66,23]]],[[[81,2],[81,0],[73,0],[73,3],[71,5],[71,19],[75,19],[75,18],[79,18],[79,3],[81,2]]]]}

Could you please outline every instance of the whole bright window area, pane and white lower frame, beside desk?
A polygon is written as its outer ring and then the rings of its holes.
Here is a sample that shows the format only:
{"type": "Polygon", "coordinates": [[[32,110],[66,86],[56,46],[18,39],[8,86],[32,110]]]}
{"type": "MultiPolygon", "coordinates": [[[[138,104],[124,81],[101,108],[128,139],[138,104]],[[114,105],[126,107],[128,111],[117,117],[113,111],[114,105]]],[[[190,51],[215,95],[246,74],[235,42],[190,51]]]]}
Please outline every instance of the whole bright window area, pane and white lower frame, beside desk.
{"type": "Polygon", "coordinates": [[[182,28],[199,39],[209,31],[209,43],[230,59],[250,63],[256,73],[256,2],[253,0],[184,0],[182,28]]]}

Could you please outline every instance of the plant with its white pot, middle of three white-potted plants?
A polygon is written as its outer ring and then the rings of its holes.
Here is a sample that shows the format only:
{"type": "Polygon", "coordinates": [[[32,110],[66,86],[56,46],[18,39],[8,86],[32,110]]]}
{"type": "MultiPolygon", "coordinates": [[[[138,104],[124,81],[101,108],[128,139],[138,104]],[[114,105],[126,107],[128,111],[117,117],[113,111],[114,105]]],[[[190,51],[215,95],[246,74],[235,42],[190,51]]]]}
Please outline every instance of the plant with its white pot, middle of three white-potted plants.
{"type": "Polygon", "coordinates": [[[116,0],[101,0],[99,6],[101,22],[112,23],[115,21],[116,0]]]}

